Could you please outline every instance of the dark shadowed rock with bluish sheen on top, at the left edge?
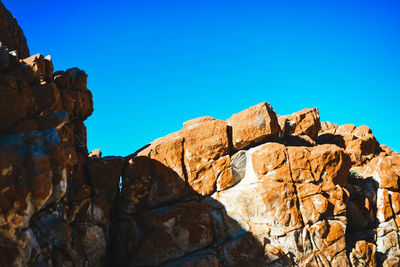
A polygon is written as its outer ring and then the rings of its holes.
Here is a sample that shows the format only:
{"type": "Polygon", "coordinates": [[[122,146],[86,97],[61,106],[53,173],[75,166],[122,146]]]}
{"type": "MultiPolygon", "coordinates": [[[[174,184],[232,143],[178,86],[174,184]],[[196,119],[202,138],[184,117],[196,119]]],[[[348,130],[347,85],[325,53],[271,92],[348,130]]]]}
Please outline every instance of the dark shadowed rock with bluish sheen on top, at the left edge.
{"type": "Polygon", "coordinates": [[[0,140],[0,210],[12,227],[65,194],[67,155],[55,129],[5,135],[0,140]]]}

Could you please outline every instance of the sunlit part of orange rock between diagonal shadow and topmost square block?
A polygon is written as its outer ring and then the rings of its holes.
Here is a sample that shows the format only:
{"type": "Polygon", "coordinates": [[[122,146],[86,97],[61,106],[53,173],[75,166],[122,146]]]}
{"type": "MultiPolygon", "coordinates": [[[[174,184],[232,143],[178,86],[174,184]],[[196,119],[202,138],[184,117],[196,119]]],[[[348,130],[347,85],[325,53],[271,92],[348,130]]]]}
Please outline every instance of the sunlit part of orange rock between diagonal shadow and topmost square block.
{"type": "MultiPolygon", "coordinates": [[[[217,179],[222,172],[230,175],[226,170],[230,168],[228,153],[226,123],[206,117],[185,123],[182,130],[155,140],[138,155],[161,162],[183,180],[187,179],[195,192],[209,195],[216,190],[217,179]]],[[[231,179],[228,176],[226,178],[231,179]]]]}

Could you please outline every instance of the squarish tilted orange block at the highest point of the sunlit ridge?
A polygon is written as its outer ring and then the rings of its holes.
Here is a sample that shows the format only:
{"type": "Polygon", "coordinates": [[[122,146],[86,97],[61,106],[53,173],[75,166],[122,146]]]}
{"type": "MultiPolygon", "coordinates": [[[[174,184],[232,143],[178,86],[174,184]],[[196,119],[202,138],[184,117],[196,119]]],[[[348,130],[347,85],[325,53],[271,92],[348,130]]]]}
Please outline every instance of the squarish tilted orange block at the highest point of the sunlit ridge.
{"type": "Polygon", "coordinates": [[[280,131],[275,111],[266,102],[233,114],[227,123],[232,126],[236,150],[275,140],[280,131]]]}

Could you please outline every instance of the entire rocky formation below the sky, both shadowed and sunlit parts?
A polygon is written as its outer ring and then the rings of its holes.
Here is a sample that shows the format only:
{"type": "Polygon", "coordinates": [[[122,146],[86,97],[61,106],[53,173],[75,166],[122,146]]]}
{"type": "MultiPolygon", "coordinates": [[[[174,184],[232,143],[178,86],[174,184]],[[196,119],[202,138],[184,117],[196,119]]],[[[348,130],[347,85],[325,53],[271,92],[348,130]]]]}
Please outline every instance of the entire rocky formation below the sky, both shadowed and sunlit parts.
{"type": "Polygon", "coordinates": [[[0,266],[399,265],[400,154],[367,126],[263,102],[88,153],[87,75],[0,9],[0,266]]]}

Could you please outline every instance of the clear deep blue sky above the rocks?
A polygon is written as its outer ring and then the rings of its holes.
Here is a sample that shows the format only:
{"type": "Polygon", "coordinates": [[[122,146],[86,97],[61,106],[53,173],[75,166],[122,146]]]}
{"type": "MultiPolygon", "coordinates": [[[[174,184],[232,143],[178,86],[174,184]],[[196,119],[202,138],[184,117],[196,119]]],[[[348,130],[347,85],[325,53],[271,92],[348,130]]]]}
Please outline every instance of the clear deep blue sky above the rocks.
{"type": "Polygon", "coordinates": [[[400,151],[399,1],[3,2],[31,54],[88,73],[89,150],[127,155],[267,101],[366,124],[400,151]]]}

